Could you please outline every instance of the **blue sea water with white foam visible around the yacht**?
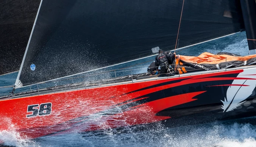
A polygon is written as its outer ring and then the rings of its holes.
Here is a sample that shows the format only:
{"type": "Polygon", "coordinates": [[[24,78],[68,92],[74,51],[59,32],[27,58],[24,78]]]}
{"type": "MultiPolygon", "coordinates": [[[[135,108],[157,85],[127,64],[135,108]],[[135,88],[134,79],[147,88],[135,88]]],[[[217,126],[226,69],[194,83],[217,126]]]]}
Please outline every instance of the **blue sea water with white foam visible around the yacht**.
{"type": "MultiPolygon", "coordinates": [[[[248,45],[245,32],[241,32],[177,52],[181,55],[200,55],[203,52],[248,55],[248,45]]],[[[146,72],[146,68],[142,67],[147,67],[153,60],[154,57],[148,57],[106,70],[137,66],[140,70],[133,71],[133,74],[146,72]]],[[[17,72],[0,76],[0,87],[14,84],[16,77],[17,72]]],[[[0,88],[0,94],[8,93],[11,89],[0,88]]],[[[17,147],[256,147],[256,117],[180,127],[156,122],[87,133],[74,130],[32,140],[22,139],[15,131],[14,124],[10,127],[12,131],[0,132],[0,140],[5,142],[4,145],[17,147]]]]}

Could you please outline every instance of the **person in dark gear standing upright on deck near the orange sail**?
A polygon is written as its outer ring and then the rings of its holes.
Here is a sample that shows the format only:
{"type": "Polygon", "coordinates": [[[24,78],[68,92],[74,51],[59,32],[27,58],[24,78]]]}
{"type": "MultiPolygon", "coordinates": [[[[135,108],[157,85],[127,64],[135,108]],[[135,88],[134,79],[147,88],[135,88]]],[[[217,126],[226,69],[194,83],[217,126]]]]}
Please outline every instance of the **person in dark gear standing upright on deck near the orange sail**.
{"type": "Polygon", "coordinates": [[[167,73],[167,67],[168,67],[168,58],[171,58],[169,54],[166,54],[166,52],[163,52],[162,49],[159,49],[159,54],[156,55],[156,61],[155,66],[160,66],[160,73],[161,76],[168,76],[167,73]]]}

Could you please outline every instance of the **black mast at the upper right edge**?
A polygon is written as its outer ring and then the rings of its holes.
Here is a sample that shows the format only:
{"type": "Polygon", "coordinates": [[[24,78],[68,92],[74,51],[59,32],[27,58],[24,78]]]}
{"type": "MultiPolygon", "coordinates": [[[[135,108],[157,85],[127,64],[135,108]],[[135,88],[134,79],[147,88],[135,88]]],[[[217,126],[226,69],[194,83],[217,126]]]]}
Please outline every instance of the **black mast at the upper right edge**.
{"type": "Polygon", "coordinates": [[[240,0],[249,55],[256,54],[256,0],[240,0]]]}

